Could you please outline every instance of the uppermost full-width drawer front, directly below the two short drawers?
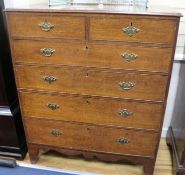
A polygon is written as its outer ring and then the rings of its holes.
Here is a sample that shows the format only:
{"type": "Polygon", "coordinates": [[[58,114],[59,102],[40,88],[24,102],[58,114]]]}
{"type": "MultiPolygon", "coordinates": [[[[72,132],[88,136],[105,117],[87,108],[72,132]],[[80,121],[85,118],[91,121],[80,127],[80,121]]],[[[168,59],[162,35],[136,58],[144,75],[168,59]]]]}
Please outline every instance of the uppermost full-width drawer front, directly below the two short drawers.
{"type": "Polygon", "coordinates": [[[171,48],[146,48],[123,45],[57,41],[14,40],[17,62],[80,65],[168,72],[171,48]]]}

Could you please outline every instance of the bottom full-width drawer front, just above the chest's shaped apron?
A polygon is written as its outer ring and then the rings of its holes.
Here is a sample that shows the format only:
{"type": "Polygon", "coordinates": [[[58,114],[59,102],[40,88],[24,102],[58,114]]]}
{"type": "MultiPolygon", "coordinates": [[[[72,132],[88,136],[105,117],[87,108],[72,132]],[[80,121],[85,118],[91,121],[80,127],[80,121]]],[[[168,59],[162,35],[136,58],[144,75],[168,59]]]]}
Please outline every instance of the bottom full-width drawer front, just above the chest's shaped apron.
{"type": "Polygon", "coordinates": [[[158,133],[25,120],[28,142],[96,152],[154,156],[158,133]],[[128,143],[127,143],[128,142],[128,143]]]}

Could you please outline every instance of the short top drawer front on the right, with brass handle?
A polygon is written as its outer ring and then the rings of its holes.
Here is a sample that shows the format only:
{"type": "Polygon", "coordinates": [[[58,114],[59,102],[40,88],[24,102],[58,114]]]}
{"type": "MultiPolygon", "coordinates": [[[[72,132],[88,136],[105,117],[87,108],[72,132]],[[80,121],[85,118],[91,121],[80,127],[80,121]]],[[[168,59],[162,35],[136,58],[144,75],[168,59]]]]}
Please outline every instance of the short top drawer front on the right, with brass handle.
{"type": "Polygon", "coordinates": [[[145,17],[90,18],[91,40],[172,44],[176,22],[145,17]]]}

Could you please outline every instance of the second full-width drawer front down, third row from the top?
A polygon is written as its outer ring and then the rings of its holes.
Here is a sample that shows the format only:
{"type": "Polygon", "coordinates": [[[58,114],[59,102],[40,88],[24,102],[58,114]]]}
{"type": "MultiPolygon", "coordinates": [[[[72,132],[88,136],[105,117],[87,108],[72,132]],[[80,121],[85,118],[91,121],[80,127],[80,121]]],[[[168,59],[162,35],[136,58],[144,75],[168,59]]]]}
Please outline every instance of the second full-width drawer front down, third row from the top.
{"type": "Polygon", "coordinates": [[[87,68],[17,66],[19,88],[164,100],[167,76],[108,72],[87,68]]]}

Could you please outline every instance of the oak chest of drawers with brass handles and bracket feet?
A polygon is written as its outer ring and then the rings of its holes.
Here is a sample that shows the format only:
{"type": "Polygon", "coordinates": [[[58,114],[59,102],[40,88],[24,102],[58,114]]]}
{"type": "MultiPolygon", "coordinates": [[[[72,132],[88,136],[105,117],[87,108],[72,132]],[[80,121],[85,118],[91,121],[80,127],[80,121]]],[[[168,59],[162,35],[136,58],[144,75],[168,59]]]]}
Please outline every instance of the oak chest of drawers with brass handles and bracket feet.
{"type": "Polygon", "coordinates": [[[72,7],[6,15],[31,161],[54,149],[153,174],[180,15],[72,7]]]}

